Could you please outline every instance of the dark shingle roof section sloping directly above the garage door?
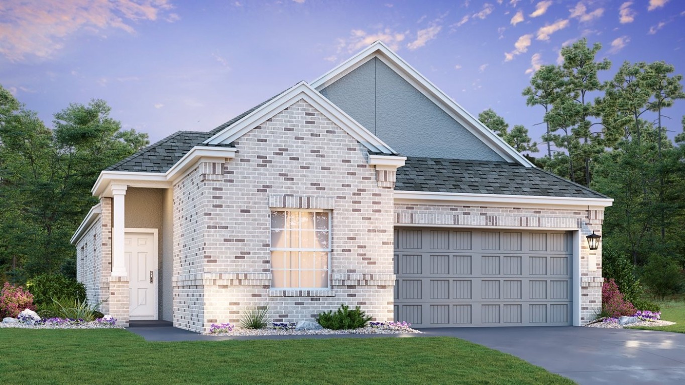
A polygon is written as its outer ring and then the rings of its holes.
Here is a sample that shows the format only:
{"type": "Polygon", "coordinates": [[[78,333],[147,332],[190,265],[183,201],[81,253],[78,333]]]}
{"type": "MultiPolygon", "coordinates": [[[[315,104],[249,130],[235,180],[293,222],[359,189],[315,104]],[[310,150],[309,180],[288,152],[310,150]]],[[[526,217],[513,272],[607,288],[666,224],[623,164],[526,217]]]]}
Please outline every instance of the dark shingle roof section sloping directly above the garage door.
{"type": "Polygon", "coordinates": [[[539,168],[502,161],[407,157],[395,190],[608,198],[539,168]]]}

